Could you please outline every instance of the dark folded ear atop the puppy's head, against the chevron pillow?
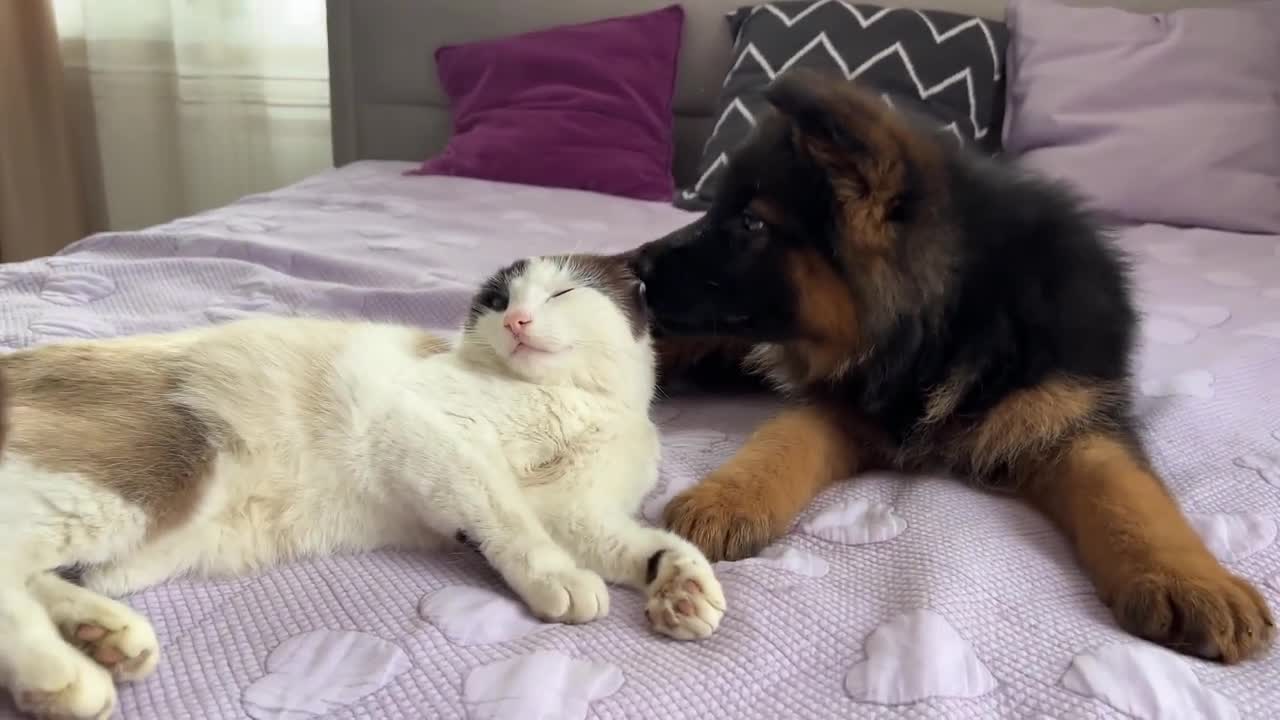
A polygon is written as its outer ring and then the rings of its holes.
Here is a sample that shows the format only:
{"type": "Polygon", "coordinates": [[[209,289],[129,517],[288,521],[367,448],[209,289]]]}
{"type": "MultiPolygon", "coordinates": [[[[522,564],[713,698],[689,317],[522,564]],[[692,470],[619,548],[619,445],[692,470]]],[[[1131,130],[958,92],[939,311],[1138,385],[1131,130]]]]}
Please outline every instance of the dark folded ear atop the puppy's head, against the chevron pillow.
{"type": "Polygon", "coordinates": [[[847,85],[835,70],[794,68],[765,88],[764,99],[806,136],[844,150],[865,150],[846,127],[841,92],[847,85]]]}

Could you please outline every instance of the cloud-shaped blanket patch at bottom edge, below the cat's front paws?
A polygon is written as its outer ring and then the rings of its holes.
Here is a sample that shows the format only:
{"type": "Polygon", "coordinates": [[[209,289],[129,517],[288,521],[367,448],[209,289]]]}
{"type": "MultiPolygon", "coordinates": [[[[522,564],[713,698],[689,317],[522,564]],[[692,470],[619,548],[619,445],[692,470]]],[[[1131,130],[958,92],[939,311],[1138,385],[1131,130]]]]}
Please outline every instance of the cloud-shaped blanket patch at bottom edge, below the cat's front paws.
{"type": "Polygon", "coordinates": [[[539,651],[471,670],[462,702],[471,720],[584,720],[589,706],[622,682],[613,665],[539,651]]]}

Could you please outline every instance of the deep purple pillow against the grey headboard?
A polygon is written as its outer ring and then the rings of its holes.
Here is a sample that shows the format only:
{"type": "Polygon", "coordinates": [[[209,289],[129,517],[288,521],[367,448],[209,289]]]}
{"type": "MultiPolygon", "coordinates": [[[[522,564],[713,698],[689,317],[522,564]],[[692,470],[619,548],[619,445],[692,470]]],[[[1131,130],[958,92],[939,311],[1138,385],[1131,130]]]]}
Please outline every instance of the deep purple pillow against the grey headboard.
{"type": "Polygon", "coordinates": [[[684,22],[671,5],[438,49],[453,137],[412,174],[669,201],[684,22]]]}

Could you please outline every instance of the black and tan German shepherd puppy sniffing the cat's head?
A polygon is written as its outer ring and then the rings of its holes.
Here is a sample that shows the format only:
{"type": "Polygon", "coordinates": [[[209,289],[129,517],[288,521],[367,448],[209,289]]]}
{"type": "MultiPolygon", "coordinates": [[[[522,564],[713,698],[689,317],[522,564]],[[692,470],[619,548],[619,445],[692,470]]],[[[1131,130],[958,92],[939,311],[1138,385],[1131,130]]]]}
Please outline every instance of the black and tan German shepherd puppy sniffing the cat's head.
{"type": "Polygon", "coordinates": [[[794,70],[709,211],[630,254],[673,375],[758,375],[797,402],[666,523],[754,555],[829,484],[945,471],[1066,534],[1128,632],[1236,662],[1262,596],[1210,553],[1143,452],[1128,268],[1066,191],[968,154],[844,78],[794,70]]]}

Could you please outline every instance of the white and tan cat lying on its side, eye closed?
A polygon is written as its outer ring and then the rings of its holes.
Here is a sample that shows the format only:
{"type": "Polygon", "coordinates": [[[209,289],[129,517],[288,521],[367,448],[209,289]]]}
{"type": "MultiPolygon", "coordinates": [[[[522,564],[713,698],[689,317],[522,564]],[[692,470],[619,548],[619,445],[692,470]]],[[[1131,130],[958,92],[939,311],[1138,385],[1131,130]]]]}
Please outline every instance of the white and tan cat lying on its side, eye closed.
{"type": "Polygon", "coordinates": [[[645,315],[608,259],[543,258],[484,284],[454,348],[261,318],[0,357],[0,682],[37,716],[108,717],[160,653],[108,596],[454,537],[547,620],[604,616],[614,582],[658,632],[709,635],[707,559],[634,519],[659,460],[645,315]]]}

